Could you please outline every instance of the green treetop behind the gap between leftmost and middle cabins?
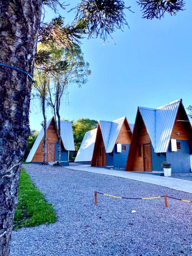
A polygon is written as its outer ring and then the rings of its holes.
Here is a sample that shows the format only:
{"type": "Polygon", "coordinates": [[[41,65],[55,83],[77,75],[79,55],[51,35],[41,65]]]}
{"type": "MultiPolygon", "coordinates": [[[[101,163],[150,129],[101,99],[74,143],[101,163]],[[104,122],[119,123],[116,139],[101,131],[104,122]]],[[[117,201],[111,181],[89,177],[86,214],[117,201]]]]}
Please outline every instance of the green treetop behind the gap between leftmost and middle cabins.
{"type": "Polygon", "coordinates": [[[78,151],[86,132],[97,128],[97,121],[81,118],[72,122],[75,150],[78,151]]]}

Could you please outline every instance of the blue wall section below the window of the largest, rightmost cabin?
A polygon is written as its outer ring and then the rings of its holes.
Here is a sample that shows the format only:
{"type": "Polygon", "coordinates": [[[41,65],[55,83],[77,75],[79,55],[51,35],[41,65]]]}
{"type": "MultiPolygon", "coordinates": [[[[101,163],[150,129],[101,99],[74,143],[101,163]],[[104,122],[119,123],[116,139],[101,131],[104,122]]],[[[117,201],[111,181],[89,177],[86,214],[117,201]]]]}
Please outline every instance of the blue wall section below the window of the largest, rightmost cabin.
{"type": "Polygon", "coordinates": [[[170,152],[171,142],[169,144],[169,149],[166,153],[167,162],[172,164],[171,172],[184,173],[190,172],[190,157],[189,157],[189,142],[188,140],[177,140],[181,143],[181,149],[177,149],[176,152],[170,152]]]}

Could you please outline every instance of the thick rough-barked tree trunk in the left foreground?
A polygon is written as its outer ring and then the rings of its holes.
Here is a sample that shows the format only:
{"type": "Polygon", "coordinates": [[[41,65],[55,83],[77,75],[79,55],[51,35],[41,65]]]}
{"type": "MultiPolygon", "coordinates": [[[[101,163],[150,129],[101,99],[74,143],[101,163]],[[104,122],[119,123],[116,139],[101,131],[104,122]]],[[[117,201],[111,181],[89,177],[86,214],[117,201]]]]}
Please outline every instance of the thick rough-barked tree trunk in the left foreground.
{"type": "MultiPolygon", "coordinates": [[[[0,1],[0,62],[33,75],[41,0],[0,1]]],[[[0,256],[10,251],[18,180],[29,136],[32,80],[0,66],[0,256]]]]}

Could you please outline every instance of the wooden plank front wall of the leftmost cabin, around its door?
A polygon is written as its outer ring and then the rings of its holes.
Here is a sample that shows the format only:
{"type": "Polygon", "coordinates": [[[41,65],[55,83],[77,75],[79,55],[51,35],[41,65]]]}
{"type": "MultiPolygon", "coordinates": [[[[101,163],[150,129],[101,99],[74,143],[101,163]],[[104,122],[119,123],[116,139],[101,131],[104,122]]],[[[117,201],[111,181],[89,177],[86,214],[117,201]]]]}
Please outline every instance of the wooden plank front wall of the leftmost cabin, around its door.
{"type": "MultiPolygon", "coordinates": [[[[33,156],[32,162],[43,162],[43,151],[42,151],[43,140],[44,140],[44,136],[35,152],[35,155],[33,156]]],[[[47,129],[47,146],[48,146],[48,143],[55,143],[56,141],[58,141],[58,137],[55,129],[55,121],[52,120],[47,129]]]]}

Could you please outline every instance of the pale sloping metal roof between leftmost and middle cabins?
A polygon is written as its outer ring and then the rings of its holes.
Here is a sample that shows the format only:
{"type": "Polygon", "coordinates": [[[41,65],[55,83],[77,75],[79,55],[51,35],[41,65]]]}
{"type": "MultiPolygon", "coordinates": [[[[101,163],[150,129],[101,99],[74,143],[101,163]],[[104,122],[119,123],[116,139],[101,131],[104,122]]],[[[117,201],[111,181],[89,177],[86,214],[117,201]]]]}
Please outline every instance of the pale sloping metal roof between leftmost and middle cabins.
{"type": "Polygon", "coordinates": [[[92,160],[96,134],[97,129],[93,129],[85,133],[77,156],[75,158],[75,162],[85,162],[92,160]]]}

